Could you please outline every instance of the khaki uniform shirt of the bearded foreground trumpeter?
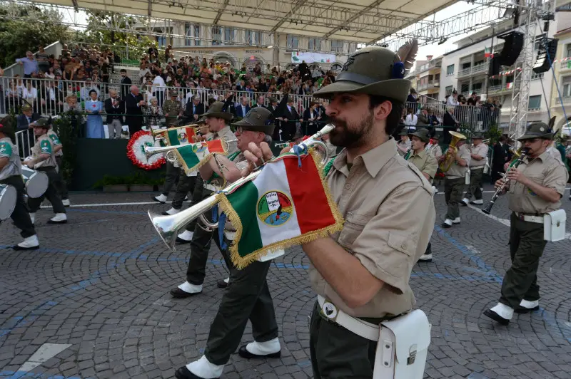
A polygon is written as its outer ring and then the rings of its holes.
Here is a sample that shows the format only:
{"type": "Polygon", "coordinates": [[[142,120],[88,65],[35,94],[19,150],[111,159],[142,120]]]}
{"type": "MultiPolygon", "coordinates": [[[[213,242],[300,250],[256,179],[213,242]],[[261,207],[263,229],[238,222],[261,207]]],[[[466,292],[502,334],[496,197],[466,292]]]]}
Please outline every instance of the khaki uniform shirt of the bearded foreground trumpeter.
{"type": "Polygon", "coordinates": [[[310,267],[313,290],[354,317],[382,318],[410,311],[415,297],[408,281],[424,254],[435,222],[433,189],[420,171],[395,154],[392,138],[353,160],[335,158],[327,180],[345,218],[331,238],[383,281],[367,304],[349,308],[323,276],[310,267]]]}

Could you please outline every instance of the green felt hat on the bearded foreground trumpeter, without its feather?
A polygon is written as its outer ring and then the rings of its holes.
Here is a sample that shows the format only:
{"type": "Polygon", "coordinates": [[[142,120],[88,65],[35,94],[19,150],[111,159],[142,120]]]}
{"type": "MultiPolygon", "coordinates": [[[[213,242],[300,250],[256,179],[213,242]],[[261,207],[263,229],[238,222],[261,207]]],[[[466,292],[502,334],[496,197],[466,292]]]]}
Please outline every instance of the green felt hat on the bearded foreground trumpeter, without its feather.
{"type": "Polygon", "coordinates": [[[405,103],[410,81],[396,53],[388,48],[367,46],[351,54],[335,78],[335,83],[313,93],[315,98],[331,98],[335,93],[364,93],[405,103]]]}

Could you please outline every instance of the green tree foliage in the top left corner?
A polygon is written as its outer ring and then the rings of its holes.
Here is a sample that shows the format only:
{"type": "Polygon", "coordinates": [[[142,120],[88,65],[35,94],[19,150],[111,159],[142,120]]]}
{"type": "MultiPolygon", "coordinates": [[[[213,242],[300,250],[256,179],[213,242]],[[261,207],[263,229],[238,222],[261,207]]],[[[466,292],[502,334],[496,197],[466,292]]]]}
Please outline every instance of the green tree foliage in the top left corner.
{"type": "Polygon", "coordinates": [[[62,24],[63,15],[57,11],[29,4],[3,3],[0,15],[14,17],[0,22],[1,67],[14,64],[16,58],[26,56],[26,51],[36,52],[40,45],[65,41],[70,36],[68,27],[62,24]]]}

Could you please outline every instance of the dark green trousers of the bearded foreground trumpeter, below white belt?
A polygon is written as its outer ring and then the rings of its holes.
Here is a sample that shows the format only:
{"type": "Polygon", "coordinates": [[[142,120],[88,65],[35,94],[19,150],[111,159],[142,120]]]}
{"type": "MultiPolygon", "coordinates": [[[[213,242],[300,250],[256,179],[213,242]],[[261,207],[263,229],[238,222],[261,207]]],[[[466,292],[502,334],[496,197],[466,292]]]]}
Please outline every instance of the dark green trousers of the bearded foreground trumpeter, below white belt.
{"type": "Polygon", "coordinates": [[[373,378],[377,343],[320,316],[317,301],[309,327],[313,378],[373,378]]]}

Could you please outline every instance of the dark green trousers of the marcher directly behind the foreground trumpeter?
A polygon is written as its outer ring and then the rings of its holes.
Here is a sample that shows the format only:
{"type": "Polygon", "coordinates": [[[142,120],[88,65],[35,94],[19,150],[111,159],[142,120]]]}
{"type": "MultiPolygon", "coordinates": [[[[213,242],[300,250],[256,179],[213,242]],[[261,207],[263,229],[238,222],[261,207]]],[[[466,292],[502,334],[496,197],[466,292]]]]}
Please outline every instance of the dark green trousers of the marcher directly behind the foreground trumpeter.
{"type": "MultiPolygon", "coordinates": [[[[226,246],[231,244],[226,238],[224,242],[226,246]]],[[[227,251],[221,251],[228,256],[227,251]]],[[[255,341],[266,342],[278,337],[276,311],[266,281],[270,265],[271,261],[254,261],[241,270],[233,265],[230,267],[230,282],[211,325],[204,351],[210,363],[228,363],[242,340],[248,320],[252,323],[255,341]]]]}

